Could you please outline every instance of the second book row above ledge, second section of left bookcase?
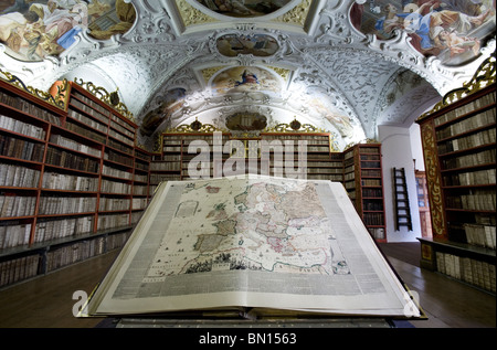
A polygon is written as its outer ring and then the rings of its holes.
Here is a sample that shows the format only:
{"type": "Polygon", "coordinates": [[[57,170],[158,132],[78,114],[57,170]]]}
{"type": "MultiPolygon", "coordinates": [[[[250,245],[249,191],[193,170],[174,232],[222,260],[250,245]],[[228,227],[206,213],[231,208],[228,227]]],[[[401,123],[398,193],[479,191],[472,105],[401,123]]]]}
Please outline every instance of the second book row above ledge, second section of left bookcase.
{"type": "Polygon", "coordinates": [[[47,197],[40,198],[40,215],[75,214],[95,212],[96,197],[47,197]]]}

